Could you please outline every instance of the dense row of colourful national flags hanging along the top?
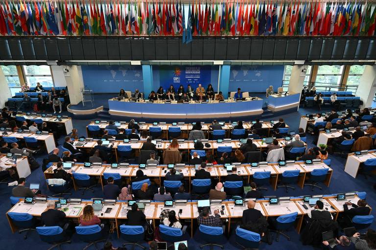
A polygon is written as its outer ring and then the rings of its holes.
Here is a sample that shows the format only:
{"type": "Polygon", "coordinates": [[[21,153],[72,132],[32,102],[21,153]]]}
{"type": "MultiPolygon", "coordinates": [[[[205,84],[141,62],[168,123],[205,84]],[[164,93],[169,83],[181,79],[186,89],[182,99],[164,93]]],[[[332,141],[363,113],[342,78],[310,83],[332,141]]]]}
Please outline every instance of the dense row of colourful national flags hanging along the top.
{"type": "Polygon", "coordinates": [[[0,3],[3,36],[182,35],[183,42],[190,42],[192,36],[205,35],[375,36],[375,26],[375,6],[371,1],[359,0],[280,3],[196,0],[186,6],[178,0],[5,0],[0,3]]]}

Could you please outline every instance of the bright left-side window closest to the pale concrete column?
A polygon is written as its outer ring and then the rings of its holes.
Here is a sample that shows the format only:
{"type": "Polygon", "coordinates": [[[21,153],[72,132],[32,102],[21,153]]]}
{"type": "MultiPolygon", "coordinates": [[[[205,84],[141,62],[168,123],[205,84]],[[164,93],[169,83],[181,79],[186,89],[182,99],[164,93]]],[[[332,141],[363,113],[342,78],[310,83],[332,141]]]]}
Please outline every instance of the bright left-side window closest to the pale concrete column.
{"type": "Polygon", "coordinates": [[[23,66],[25,82],[30,87],[34,87],[37,83],[41,83],[44,87],[53,87],[51,69],[47,65],[29,65],[23,66]]]}

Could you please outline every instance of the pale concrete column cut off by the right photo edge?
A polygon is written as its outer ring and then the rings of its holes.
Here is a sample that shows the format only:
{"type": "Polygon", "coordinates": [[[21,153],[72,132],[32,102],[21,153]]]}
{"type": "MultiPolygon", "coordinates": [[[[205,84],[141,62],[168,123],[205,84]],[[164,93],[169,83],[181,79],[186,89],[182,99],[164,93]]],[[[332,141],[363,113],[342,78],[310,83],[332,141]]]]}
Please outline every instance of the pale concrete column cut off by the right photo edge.
{"type": "Polygon", "coordinates": [[[361,108],[370,107],[374,100],[376,92],[376,65],[366,65],[362,77],[360,78],[359,87],[356,90],[356,96],[360,96],[363,101],[361,108]]]}

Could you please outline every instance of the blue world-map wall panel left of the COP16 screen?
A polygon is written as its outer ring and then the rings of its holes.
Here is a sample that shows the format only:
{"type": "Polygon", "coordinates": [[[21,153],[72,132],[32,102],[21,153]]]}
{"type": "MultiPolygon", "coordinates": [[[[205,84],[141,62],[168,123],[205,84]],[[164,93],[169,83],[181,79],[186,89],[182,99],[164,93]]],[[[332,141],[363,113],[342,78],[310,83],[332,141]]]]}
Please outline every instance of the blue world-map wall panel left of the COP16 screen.
{"type": "Polygon", "coordinates": [[[142,67],[133,65],[81,66],[84,85],[94,93],[118,93],[121,88],[143,92],[142,67]]]}

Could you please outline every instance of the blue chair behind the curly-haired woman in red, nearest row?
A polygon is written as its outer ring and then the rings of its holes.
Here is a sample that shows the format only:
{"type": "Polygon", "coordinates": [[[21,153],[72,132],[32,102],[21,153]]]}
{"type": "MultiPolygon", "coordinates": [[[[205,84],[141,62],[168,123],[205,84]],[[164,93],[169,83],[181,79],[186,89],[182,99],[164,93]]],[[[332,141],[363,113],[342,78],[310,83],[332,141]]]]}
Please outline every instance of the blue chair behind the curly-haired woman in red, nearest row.
{"type": "Polygon", "coordinates": [[[106,241],[106,238],[103,235],[102,228],[99,225],[93,226],[77,226],[76,234],[80,240],[83,242],[89,243],[83,250],[88,249],[90,246],[94,245],[95,249],[96,243],[106,241]]]}

